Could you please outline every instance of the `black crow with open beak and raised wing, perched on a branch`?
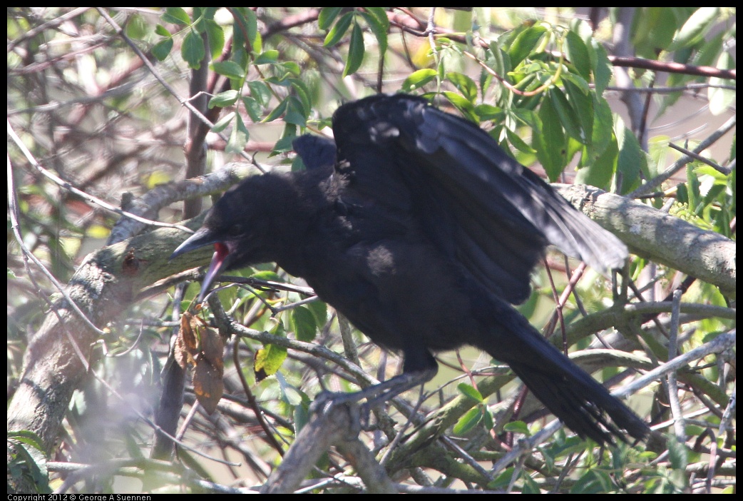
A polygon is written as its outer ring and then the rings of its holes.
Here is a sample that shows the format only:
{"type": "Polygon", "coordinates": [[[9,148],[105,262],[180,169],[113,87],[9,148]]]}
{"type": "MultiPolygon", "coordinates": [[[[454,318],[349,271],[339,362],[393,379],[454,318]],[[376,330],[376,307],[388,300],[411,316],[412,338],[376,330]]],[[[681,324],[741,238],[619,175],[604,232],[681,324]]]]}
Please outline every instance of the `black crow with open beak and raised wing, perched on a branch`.
{"type": "Polygon", "coordinates": [[[626,262],[622,242],[478,126],[420,97],[340,106],[333,132],[297,138],[305,171],[241,181],[175,250],[215,245],[201,299],[222,271],[276,262],[400,352],[405,375],[430,378],[433,352],[470,344],[507,363],[580,436],[646,436],[510,306],[527,299],[548,244],[606,274],[626,262]]]}

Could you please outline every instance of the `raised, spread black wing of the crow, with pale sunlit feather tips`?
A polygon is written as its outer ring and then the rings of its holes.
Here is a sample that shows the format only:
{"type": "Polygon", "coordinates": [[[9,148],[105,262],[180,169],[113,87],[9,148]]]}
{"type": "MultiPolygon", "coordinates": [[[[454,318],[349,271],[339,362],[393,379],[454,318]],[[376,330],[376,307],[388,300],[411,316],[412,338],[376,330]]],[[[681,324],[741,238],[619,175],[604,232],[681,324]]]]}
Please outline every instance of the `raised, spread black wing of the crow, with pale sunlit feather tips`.
{"type": "Polygon", "coordinates": [[[379,210],[410,213],[438,248],[511,303],[548,244],[603,273],[627,249],[575,210],[473,123],[404,94],[341,106],[333,117],[339,175],[379,210]]]}

